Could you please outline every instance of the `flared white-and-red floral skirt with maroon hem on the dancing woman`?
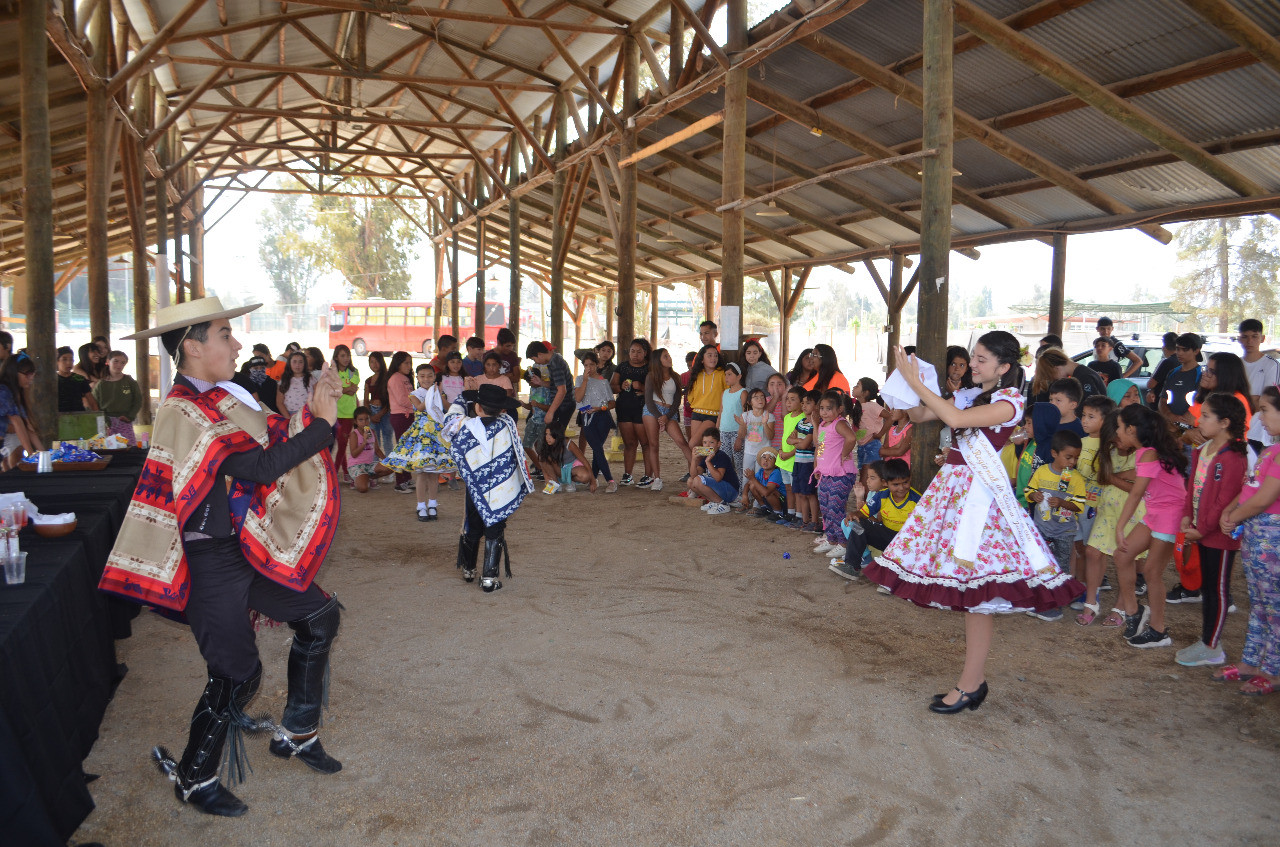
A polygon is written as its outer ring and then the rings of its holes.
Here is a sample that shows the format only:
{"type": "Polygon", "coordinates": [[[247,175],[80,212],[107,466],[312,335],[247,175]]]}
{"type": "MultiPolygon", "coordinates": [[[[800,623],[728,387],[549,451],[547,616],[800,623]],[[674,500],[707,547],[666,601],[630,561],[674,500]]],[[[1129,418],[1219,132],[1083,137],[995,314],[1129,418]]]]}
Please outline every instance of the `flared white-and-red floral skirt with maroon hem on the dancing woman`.
{"type": "Polygon", "coordinates": [[[963,514],[974,485],[980,484],[968,466],[942,466],[893,542],[863,573],[904,600],[957,612],[1047,612],[1079,596],[1084,586],[1057,569],[1053,554],[1025,512],[1019,509],[1006,517],[992,502],[984,516],[963,514]],[[954,555],[961,519],[983,521],[973,562],[954,555]],[[1044,566],[1032,564],[1010,519],[1027,521],[1029,532],[1024,535],[1041,546],[1044,566]]]}

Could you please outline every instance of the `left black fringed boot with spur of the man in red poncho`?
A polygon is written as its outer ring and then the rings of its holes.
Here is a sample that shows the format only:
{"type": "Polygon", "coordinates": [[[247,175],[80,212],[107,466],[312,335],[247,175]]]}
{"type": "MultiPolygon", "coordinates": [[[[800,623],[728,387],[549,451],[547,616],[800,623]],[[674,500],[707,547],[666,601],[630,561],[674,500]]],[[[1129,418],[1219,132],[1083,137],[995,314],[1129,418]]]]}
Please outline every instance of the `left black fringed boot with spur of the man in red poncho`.
{"type": "Polygon", "coordinates": [[[151,755],[160,770],[174,782],[173,792],[184,803],[210,815],[239,818],[246,806],[239,797],[223,787],[218,780],[218,764],[221,761],[223,746],[232,737],[230,779],[233,784],[243,780],[248,759],[244,755],[241,731],[256,732],[259,722],[244,714],[257,687],[262,682],[262,667],[259,665],[252,677],[236,685],[228,677],[209,677],[205,692],[191,715],[191,731],[187,748],[180,761],[164,747],[155,747],[151,755]]]}

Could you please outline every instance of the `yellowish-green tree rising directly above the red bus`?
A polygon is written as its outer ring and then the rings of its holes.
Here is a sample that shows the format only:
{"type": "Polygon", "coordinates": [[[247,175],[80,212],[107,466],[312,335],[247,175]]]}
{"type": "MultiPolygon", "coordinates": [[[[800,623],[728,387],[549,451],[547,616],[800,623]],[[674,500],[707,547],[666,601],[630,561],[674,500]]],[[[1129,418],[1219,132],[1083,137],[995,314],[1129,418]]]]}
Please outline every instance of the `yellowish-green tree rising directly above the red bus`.
{"type": "Polygon", "coordinates": [[[417,230],[406,211],[413,214],[415,206],[370,196],[390,188],[378,180],[352,179],[337,193],[315,201],[316,257],[323,267],[340,274],[356,297],[403,299],[410,294],[408,266],[417,258],[417,230]]]}

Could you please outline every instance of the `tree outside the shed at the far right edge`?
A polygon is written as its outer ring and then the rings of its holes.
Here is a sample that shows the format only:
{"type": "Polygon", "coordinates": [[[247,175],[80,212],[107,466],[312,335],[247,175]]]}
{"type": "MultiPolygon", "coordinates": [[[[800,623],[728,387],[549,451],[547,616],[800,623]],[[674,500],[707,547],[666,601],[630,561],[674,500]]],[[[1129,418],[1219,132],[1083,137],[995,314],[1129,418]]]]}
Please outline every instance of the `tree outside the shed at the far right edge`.
{"type": "Polygon", "coordinates": [[[1174,308],[1197,329],[1219,333],[1280,306],[1280,224],[1266,216],[1199,220],[1178,230],[1174,308]]]}

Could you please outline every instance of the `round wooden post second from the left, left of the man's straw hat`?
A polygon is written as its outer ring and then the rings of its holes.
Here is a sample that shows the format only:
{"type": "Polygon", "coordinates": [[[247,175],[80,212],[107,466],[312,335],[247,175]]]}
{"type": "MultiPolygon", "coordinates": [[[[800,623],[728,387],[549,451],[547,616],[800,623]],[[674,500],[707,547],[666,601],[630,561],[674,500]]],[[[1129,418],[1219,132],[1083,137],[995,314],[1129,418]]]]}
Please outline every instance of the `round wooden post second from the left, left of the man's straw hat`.
{"type": "Polygon", "coordinates": [[[101,3],[90,18],[90,42],[93,46],[93,72],[86,86],[84,100],[84,237],[88,253],[88,328],[90,335],[111,334],[111,310],[108,298],[106,273],[106,206],[111,179],[108,177],[111,139],[111,113],[106,84],[108,55],[111,44],[110,6],[101,3]]]}

